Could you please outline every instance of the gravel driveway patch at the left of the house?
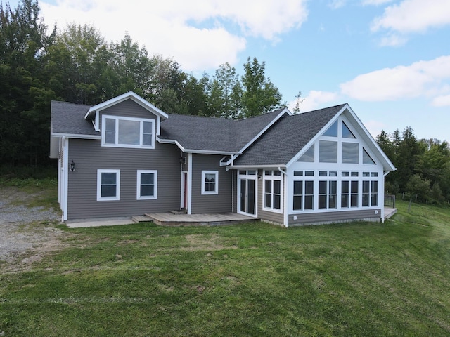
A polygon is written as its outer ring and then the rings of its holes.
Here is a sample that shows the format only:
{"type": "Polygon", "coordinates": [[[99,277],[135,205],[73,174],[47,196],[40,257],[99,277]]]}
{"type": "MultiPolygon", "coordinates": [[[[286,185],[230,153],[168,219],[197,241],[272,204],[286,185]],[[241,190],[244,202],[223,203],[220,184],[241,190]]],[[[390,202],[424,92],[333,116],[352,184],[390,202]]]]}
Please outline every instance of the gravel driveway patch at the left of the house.
{"type": "Polygon", "coordinates": [[[0,187],[0,268],[17,269],[41,260],[60,247],[60,214],[53,209],[24,206],[39,197],[17,187],[0,187]],[[6,262],[6,265],[4,264],[6,262]]]}

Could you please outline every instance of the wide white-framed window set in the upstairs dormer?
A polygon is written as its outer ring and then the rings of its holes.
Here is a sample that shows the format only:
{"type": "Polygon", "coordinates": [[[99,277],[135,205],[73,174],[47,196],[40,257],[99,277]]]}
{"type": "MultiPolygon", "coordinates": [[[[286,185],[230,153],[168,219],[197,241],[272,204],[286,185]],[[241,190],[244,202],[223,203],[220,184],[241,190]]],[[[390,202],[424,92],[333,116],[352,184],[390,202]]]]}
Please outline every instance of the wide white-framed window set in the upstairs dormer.
{"type": "Polygon", "coordinates": [[[102,146],[153,149],[155,120],[103,115],[102,146]]]}

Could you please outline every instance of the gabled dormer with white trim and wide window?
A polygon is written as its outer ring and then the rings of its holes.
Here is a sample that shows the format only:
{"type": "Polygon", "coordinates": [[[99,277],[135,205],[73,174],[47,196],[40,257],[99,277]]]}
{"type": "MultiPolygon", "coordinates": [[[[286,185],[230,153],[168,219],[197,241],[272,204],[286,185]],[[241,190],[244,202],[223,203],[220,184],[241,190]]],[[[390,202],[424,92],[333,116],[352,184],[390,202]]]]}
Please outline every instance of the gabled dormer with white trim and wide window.
{"type": "Polygon", "coordinates": [[[167,114],[129,91],[89,108],[84,116],[101,132],[105,147],[154,148],[167,114]]]}

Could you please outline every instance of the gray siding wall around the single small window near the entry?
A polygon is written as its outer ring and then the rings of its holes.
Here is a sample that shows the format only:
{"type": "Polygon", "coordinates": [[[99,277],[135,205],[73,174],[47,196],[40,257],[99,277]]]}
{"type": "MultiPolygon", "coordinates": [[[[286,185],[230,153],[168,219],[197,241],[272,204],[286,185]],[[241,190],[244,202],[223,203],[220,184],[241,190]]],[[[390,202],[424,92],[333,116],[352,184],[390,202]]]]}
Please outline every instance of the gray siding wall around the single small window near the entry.
{"type": "Polygon", "coordinates": [[[231,212],[232,171],[219,166],[221,155],[192,156],[192,213],[231,212]],[[202,171],[219,171],[219,194],[202,195],[202,171]]]}

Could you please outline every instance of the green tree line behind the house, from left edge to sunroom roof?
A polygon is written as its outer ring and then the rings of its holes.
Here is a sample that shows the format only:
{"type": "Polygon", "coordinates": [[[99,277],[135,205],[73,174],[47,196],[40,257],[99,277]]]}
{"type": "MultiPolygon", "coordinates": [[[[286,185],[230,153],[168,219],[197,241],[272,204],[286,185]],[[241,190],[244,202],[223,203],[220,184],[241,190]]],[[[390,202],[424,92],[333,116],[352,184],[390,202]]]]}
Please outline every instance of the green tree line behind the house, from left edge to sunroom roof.
{"type": "Polygon", "coordinates": [[[129,34],[105,41],[95,27],[49,29],[37,0],[0,3],[0,165],[48,165],[51,100],[95,105],[134,91],[168,113],[242,119],[285,105],[248,58],[197,79],[172,58],[151,55],[129,34]]]}

